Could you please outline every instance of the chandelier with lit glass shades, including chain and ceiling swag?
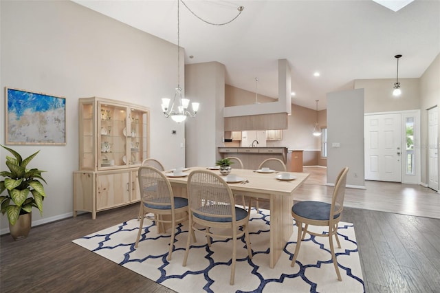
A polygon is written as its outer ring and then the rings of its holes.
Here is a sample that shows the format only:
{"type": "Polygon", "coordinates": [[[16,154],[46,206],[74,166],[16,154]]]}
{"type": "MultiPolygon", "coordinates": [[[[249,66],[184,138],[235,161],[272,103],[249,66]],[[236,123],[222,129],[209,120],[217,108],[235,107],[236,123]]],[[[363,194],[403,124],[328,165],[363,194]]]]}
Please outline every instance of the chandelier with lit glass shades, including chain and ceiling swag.
{"type": "Polygon", "coordinates": [[[192,102],[192,111],[188,109],[188,106],[190,104],[190,100],[187,98],[182,98],[181,91],[182,88],[180,87],[180,2],[184,4],[184,6],[197,17],[201,21],[204,21],[210,25],[225,25],[227,23],[230,23],[234,21],[241,12],[244,10],[243,6],[240,6],[237,8],[239,10],[239,14],[236,15],[232,20],[227,21],[225,23],[210,23],[208,21],[205,21],[201,19],[199,16],[197,16],[188,6],[186,6],[186,3],[182,0],[177,0],[177,87],[175,88],[175,94],[173,98],[173,102],[169,98],[162,98],[162,111],[164,112],[164,116],[166,118],[171,117],[175,122],[180,123],[186,120],[186,117],[192,117],[194,118],[197,114],[197,111],[199,111],[199,103],[198,102],[192,102]],[[171,104],[170,104],[171,102],[171,104]]]}

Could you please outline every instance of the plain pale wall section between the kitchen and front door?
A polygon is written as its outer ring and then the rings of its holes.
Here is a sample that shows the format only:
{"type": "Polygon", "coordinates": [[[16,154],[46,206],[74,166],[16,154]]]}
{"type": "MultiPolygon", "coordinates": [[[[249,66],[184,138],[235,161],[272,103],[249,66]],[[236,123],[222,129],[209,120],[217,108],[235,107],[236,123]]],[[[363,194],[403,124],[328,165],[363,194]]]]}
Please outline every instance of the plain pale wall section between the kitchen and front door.
{"type": "Polygon", "coordinates": [[[327,94],[327,132],[327,182],[334,184],[348,166],[347,186],[363,187],[364,89],[327,94]]]}

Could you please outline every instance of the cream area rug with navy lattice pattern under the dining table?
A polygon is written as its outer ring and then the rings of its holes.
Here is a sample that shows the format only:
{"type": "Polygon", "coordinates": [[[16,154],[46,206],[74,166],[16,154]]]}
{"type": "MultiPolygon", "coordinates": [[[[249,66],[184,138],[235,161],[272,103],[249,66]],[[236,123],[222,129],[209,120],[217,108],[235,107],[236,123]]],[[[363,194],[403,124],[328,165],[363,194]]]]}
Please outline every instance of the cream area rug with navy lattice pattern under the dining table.
{"type": "Polygon", "coordinates": [[[131,219],[73,242],[176,292],[364,292],[355,231],[350,223],[339,225],[342,248],[336,246],[336,255],[342,281],[338,281],[327,237],[307,235],[296,265],[290,266],[296,226],[275,268],[269,268],[270,213],[252,210],[252,259],[248,258],[244,239],[239,239],[234,285],[230,285],[232,239],[213,239],[208,247],[206,238],[196,234],[197,243],[191,243],[188,262],[183,267],[188,222],[177,227],[170,261],[166,260],[170,236],[157,234],[148,219],[144,221],[139,246],[134,248],[139,224],[137,219],[131,219]]]}

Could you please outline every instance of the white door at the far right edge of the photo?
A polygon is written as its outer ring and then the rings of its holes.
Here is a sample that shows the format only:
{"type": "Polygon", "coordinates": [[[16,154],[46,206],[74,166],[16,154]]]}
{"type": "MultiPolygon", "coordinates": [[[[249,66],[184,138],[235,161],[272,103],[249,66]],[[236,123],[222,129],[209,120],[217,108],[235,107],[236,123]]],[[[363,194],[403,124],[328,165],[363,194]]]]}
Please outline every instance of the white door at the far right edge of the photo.
{"type": "Polygon", "coordinates": [[[428,187],[439,190],[439,114],[438,108],[428,110],[428,187]]]}

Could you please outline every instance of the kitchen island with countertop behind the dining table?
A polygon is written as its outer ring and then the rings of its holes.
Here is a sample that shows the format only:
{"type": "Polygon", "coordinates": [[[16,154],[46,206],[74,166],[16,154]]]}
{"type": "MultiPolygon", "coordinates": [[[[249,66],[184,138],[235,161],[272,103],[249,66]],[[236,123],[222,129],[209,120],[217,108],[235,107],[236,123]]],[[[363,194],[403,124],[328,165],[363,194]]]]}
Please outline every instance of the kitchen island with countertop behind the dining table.
{"type": "MultiPolygon", "coordinates": [[[[261,162],[269,158],[280,159],[287,166],[287,147],[285,146],[263,146],[263,147],[241,147],[241,146],[221,146],[218,148],[221,158],[236,157],[243,162],[245,169],[258,169],[261,162]]],[[[232,165],[234,169],[234,165],[232,165]]]]}

